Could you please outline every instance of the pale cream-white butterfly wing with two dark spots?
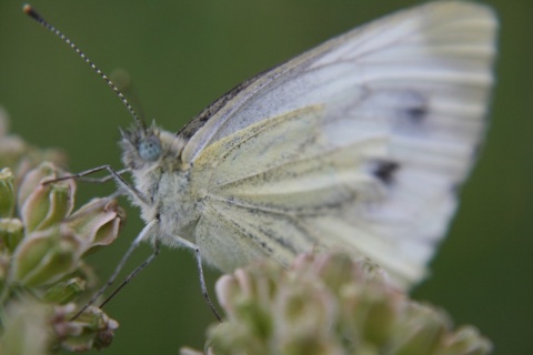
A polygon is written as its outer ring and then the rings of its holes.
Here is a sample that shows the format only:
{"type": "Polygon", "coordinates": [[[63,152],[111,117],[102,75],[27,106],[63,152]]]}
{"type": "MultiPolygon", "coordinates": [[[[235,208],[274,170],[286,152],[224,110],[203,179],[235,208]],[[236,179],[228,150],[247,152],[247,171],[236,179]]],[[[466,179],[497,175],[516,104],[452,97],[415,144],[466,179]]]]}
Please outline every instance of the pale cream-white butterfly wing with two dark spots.
{"type": "Polygon", "coordinates": [[[286,264],[338,246],[399,284],[420,280],[485,128],[496,28],[473,3],[402,11],[202,112],[180,135],[204,196],[195,237],[207,260],[222,270],[258,255],[286,264]],[[217,255],[222,245],[233,252],[217,255]]]}

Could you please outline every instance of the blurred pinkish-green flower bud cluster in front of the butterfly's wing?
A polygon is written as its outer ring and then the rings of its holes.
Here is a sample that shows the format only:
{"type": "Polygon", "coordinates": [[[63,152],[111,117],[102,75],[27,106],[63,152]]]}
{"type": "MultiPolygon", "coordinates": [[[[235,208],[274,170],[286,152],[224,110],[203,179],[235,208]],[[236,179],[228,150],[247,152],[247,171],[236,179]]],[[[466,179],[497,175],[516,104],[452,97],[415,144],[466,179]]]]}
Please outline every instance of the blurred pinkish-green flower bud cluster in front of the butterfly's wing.
{"type": "MultiPolygon", "coordinates": [[[[443,311],[410,301],[370,262],[343,253],[273,262],[222,276],[227,322],[208,331],[208,354],[481,355],[490,341],[454,331],[443,311]]],[[[182,349],[182,355],[201,354],[182,349]]]]}

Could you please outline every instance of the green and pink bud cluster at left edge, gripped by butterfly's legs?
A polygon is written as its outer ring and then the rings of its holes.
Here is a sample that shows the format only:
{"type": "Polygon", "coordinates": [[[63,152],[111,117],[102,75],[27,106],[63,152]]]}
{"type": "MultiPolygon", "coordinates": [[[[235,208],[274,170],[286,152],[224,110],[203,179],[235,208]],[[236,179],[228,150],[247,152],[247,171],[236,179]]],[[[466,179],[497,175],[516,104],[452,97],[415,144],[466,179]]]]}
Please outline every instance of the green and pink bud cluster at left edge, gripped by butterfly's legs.
{"type": "Polygon", "coordinates": [[[61,154],[8,135],[0,112],[0,354],[49,354],[108,346],[118,327],[89,307],[72,320],[95,285],[83,257],[112,243],[125,221],[111,199],[74,211],[76,183],[61,154]],[[1,168],[9,166],[9,168],[1,168]]]}

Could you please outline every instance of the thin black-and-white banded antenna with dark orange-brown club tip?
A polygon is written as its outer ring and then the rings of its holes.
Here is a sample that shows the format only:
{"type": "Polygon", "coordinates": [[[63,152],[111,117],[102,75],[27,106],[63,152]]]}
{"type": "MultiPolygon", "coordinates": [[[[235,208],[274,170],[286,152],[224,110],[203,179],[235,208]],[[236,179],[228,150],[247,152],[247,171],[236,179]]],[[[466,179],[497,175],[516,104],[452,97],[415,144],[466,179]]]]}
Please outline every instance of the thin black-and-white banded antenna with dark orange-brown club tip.
{"type": "Polygon", "coordinates": [[[100,75],[100,78],[102,78],[107,83],[108,85],[114,91],[114,93],[119,97],[119,99],[122,101],[122,103],[125,105],[125,108],[128,109],[128,111],[130,112],[131,116],[133,118],[135,124],[139,126],[139,128],[144,128],[144,124],[142,123],[141,119],[137,115],[137,112],[135,110],[133,110],[133,108],[131,106],[130,102],[128,101],[128,99],[125,99],[125,97],[122,94],[122,92],[120,92],[119,88],[117,88],[117,85],[108,78],[108,75],[105,75],[105,73],[103,73],[93,62],[92,60],[90,60],[86,53],[83,53],[79,48],[78,45],[74,44],[74,42],[72,42],[67,36],[64,36],[60,30],[58,30],[57,28],[54,28],[52,24],[50,24],[50,22],[48,22],[47,20],[44,20],[43,17],[41,17],[30,4],[24,4],[22,10],[24,11],[26,14],[28,14],[30,18],[32,18],[33,20],[36,20],[37,22],[39,22],[42,27],[44,27],[47,30],[49,30],[50,32],[52,32],[53,34],[56,34],[57,37],[59,37],[64,43],[67,43],[70,48],[72,48],[77,53],[78,55],[81,57],[81,59],[83,59],[83,61],[86,63],[89,64],[89,67],[92,68],[92,70],[94,70],[97,72],[97,74],[100,75]]]}

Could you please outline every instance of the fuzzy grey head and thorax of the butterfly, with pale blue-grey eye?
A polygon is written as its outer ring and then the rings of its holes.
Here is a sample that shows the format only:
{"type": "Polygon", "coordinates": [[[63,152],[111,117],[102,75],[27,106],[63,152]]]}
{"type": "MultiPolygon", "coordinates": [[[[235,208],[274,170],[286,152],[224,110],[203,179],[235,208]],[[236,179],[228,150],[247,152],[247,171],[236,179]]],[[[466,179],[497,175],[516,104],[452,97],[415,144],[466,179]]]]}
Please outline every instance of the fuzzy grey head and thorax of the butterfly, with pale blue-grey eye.
{"type": "Polygon", "coordinates": [[[153,125],[122,132],[122,161],[131,170],[135,189],[145,197],[133,203],[147,223],[159,221],[157,237],[164,244],[174,244],[175,236],[192,240],[200,217],[190,166],[180,158],[183,145],[180,138],[153,125]]]}

